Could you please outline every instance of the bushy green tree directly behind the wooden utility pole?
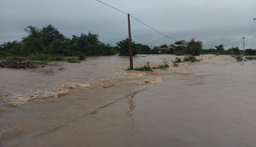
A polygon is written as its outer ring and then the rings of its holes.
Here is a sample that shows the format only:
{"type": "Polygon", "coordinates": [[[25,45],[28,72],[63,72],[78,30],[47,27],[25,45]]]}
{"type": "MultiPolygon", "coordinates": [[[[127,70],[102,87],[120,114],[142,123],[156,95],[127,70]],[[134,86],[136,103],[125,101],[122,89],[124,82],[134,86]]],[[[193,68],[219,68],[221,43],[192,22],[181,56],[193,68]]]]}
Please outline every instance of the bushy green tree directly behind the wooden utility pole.
{"type": "MultiPolygon", "coordinates": [[[[116,43],[119,48],[119,56],[129,56],[129,39],[126,38],[118,43],[116,43]]],[[[132,56],[136,56],[138,54],[138,50],[136,48],[135,42],[131,42],[132,47],[132,56]]]]}

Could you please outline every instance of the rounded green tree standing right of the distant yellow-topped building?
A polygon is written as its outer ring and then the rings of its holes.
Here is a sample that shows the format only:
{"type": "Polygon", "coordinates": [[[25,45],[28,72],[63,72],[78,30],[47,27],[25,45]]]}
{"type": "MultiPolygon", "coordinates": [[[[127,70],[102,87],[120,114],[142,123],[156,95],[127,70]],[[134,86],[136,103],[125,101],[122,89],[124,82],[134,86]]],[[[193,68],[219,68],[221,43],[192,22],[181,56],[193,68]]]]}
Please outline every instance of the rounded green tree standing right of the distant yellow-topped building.
{"type": "Polygon", "coordinates": [[[193,56],[199,56],[200,51],[202,49],[203,43],[200,41],[195,41],[195,38],[192,38],[188,42],[188,47],[187,47],[187,53],[193,55],[193,56]]]}

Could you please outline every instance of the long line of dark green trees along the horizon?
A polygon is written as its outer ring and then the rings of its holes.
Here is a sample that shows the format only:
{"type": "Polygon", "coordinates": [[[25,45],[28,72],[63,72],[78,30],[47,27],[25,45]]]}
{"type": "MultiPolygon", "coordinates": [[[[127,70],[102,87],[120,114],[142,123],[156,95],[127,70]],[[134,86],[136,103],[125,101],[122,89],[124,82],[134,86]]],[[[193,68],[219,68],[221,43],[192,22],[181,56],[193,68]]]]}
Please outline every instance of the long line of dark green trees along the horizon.
{"type": "MultiPolygon", "coordinates": [[[[0,45],[0,56],[29,56],[30,54],[53,54],[62,56],[104,56],[115,55],[129,56],[129,39],[126,38],[117,42],[117,46],[104,44],[99,41],[98,34],[81,33],[80,36],[73,35],[67,38],[52,25],[38,29],[34,26],[24,28],[27,37],[21,38],[21,41],[4,42],[0,45]]],[[[203,43],[192,38],[189,42],[185,40],[176,41],[172,44],[173,48],[165,49],[163,54],[173,54],[174,50],[181,50],[182,54],[200,55],[200,54],[241,54],[238,47],[224,50],[223,45],[215,46],[215,48],[203,49],[203,43]]],[[[161,47],[167,47],[166,44],[161,47]]],[[[151,49],[147,45],[132,42],[132,53],[137,54],[159,54],[157,46],[151,49]]],[[[255,49],[246,49],[246,55],[256,55],[255,49]]]]}

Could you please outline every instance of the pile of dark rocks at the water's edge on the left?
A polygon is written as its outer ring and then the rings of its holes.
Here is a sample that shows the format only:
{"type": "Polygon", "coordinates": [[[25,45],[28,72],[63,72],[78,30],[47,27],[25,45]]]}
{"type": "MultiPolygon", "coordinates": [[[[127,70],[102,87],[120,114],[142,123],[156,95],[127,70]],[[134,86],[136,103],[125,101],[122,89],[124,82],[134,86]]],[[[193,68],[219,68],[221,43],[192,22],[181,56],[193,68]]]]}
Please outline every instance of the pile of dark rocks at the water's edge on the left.
{"type": "Polygon", "coordinates": [[[29,61],[24,62],[24,61],[16,61],[16,60],[12,60],[12,61],[2,61],[0,62],[0,67],[3,68],[31,68],[31,69],[35,69],[38,68],[37,65],[34,65],[32,63],[30,63],[29,61]]]}

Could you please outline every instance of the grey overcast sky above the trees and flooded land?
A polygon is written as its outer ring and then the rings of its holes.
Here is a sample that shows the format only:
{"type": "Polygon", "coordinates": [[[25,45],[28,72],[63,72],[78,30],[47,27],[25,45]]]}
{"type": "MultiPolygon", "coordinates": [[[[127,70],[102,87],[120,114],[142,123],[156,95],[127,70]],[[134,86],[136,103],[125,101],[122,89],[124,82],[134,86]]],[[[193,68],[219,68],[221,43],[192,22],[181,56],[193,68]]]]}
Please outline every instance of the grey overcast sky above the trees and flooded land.
{"type": "MultiPolygon", "coordinates": [[[[225,49],[243,49],[241,37],[247,37],[245,49],[256,49],[256,0],[100,1],[174,39],[130,18],[135,43],[153,47],[195,38],[204,48],[223,44],[225,49]]],[[[20,41],[28,26],[42,29],[49,24],[68,38],[91,31],[111,46],[128,38],[127,15],[97,0],[0,0],[0,44],[20,41]]]]}

